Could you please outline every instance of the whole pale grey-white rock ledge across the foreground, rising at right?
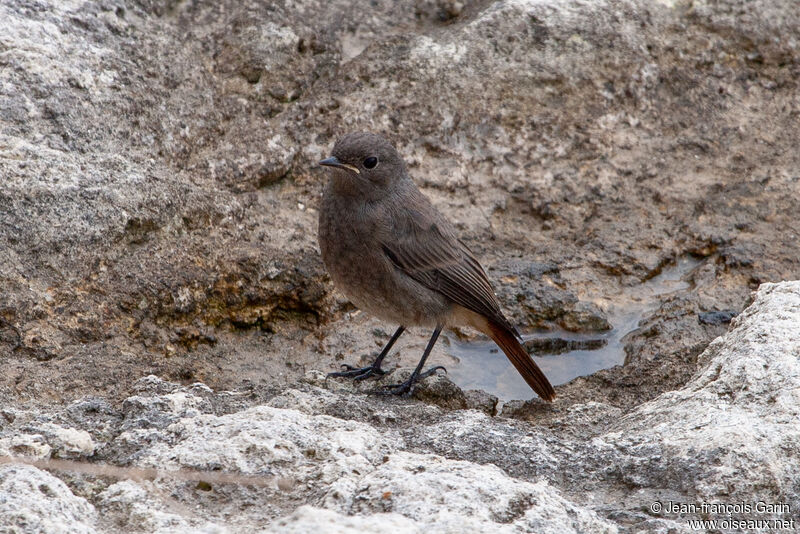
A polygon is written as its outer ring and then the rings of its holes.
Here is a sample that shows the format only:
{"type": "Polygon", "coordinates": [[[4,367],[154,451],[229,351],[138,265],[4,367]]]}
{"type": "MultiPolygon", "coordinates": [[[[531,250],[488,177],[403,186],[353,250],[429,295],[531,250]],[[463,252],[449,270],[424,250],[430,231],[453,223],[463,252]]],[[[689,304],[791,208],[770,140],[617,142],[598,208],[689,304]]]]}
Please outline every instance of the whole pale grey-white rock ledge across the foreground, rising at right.
{"type": "Polygon", "coordinates": [[[16,511],[3,517],[20,532],[682,532],[709,518],[656,502],[784,503],[739,519],[790,520],[800,509],[798,347],[800,282],[785,282],[762,285],[684,387],[624,416],[557,402],[528,423],[320,388],[315,376],[261,403],[149,376],[108,410],[114,435],[81,401],[35,419],[20,412],[0,440],[24,428],[53,444],[39,459],[57,458],[50,421],[70,421],[96,443],[88,465],[107,471],[59,464],[68,487],[2,466],[0,511],[16,511]],[[31,492],[46,498],[13,508],[31,492]],[[54,513],[62,530],[48,526],[54,513]]]}

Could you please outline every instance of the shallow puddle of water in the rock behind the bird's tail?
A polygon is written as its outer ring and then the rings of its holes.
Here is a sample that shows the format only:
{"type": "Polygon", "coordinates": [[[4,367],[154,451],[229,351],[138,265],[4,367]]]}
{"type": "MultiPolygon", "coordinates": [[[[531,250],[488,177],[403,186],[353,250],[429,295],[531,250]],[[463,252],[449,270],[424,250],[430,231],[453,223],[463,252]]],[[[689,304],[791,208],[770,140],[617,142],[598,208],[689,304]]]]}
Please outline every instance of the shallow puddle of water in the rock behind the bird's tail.
{"type": "MultiPolygon", "coordinates": [[[[612,329],[608,332],[576,334],[567,331],[535,332],[523,335],[539,364],[553,385],[625,361],[623,338],[636,330],[639,322],[654,311],[660,298],[689,288],[685,280],[699,261],[686,257],[650,280],[625,288],[613,298],[597,304],[606,312],[612,329]]],[[[503,401],[530,399],[534,396],[505,355],[489,340],[464,342],[453,335],[447,351],[458,363],[447,366],[448,376],[462,389],[482,389],[503,401]]]]}

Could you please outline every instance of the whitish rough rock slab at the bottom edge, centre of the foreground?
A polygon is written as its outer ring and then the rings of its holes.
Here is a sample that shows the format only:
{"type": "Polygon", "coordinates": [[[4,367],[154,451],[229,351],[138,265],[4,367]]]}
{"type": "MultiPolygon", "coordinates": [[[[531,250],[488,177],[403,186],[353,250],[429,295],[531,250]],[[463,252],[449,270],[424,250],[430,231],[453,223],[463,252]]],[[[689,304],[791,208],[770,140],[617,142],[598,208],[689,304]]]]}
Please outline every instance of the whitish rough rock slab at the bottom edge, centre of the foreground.
{"type": "Polygon", "coordinates": [[[397,512],[425,532],[617,532],[546,482],[516,480],[493,465],[408,452],[392,454],[355,483],[337,481],[324,502],[348,513],[397,512]]]}

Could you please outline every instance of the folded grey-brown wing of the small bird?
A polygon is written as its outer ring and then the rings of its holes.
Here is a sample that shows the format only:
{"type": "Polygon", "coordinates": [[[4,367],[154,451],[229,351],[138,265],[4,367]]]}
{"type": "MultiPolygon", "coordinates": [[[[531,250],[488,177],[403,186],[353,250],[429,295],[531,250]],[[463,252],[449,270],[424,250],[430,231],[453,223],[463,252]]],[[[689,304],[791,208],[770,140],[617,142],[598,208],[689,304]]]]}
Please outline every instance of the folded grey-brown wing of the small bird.
{"type": "Polygon", "coordinates": [[[478,260],[452,232],[440,226],[430,220],[407,221],[406,231],[394,233],[403,237],[382,243],[383,251],[400,270],[422,285],[508,325],[478,260]]]}

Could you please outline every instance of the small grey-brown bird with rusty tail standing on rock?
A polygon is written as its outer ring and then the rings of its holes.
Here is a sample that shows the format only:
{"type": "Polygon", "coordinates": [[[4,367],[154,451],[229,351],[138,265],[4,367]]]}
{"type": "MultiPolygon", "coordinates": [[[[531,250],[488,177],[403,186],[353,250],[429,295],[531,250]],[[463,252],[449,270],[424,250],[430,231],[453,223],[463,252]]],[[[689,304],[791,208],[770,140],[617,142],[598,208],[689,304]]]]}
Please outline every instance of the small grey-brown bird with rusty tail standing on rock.
{"type": "Polygon", "coordinates": [[[475,254],[417,188],[389,140],[372,132],[348,133],[319,165],[329,175],[318,241],[331,280],[362,311],[399,325],[372,365],[345,364],[329,376],[383,375],[383,360],[406,328],[432,328],[411,376],[385,386],[386,393],[410,396],[419,380],[444,369],[422,371],[442,329],[468,326],[489,336],[539,397],[555,399],[553,386],[503,315],[475,254]]]}

